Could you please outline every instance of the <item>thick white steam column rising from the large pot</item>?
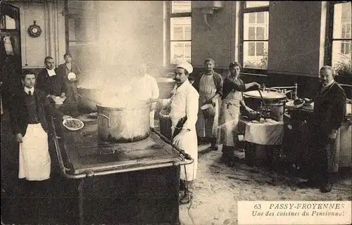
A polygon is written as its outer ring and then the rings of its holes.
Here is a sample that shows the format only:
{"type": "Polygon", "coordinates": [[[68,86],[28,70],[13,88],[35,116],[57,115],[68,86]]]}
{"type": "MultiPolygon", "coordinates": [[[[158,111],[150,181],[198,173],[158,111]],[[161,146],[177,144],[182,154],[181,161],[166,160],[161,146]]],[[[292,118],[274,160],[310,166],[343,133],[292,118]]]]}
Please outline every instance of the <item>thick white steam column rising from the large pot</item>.
{"type": "Polygon", "coordinates": [[[96,1],[98,13],[98,52],[89,75],[84,75],[82,88],[99,89],[89,96],[102,105],[125,107],[139,104],[139,65],[146,63],[150,46],[141,41],[149,29],[144,12],[153,4],[143,1],[96,1]]]}

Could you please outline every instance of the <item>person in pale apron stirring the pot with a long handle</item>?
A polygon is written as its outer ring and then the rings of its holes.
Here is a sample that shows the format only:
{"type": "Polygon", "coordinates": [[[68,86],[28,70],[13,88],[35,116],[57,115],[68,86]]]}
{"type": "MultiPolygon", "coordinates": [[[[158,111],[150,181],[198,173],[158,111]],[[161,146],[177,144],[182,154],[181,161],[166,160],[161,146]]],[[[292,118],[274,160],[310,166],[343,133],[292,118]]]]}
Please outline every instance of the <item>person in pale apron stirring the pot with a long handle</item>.
{"type": "Polygon", "coordinates": [[[229,65],[230,75],[224,79],[222,86],[222,105],[220,108],[220,126],[218,127],[218,143],[222,144],[221,162],[228,166],[234,165],[234,148],[238,141],[239,108],[242,105],[245,110],[253,112],[246,106],[243,91],[252,86],[260,87],[260,84],[251,82],[244,84],[239,78],[241,65],[232,62],[229,65]]]}

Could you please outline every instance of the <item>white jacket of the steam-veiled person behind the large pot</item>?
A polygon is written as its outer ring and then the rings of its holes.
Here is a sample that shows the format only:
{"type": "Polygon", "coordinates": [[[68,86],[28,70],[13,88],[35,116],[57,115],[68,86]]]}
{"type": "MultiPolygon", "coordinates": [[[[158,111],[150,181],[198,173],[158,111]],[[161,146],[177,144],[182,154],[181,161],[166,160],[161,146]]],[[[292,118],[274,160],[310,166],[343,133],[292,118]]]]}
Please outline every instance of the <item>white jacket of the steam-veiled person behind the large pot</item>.
{"type": "MultiPolygon", "coordinates": [[[[134,80],[134,94],[141,100],[148,100],[149,98],[159,98],[159,87],[156,79],[151,75],[145,74],[142,77],[135,77],[134,80]]],[[[155,108],[156,103],[152,103],[155,108]]],[[[154,127],[155,110],[150,112],[150,126],[154,127]]]]}

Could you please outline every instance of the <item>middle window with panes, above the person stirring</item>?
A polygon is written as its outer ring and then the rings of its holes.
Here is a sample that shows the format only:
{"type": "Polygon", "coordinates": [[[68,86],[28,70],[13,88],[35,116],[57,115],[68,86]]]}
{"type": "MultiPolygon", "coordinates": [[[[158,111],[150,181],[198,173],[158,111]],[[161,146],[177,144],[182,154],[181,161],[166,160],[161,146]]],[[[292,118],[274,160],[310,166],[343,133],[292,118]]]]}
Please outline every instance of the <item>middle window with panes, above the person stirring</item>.
{"type": "Polygon", "coordinates": [[[268,69],[269,1],[242,1],[239,60],[243,68],[268,69]]]}

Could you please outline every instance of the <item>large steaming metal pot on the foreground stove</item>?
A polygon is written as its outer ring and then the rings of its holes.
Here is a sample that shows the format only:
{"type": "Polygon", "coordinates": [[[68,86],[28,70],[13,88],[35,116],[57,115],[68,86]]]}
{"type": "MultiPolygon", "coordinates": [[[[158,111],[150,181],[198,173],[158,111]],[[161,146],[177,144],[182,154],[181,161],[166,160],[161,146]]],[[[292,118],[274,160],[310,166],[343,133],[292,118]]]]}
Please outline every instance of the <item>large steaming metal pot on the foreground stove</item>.
{"type": "Polygon", "coordinates": [[[151,103],[156,101],[139,101],[125,108],[96,104],[99,139],[120,143],[146,139],[150,131],[151,103]]]}

